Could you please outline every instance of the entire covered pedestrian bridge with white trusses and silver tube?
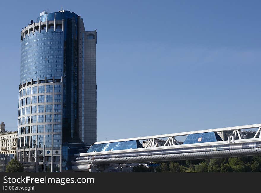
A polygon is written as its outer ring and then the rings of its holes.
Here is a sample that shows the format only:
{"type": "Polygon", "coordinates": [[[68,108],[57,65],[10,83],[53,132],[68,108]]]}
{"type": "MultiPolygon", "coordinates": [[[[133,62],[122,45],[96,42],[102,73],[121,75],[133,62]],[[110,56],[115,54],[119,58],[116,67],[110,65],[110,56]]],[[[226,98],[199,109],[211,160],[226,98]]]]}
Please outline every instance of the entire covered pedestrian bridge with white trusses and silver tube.
{"type": "Polygon", "coordinates": [[[261,124],[136,137],[94,143],[86,153],[74,154],[74,171],[88,171],[90,165],[192,160],[219,157],[261,155],[261,124]],[[243,130],[256,129],[252,138],[243,130]],[[223,141],[217,132],[226,131],[223,141]],[[187,136],[183,144],[176,140],[187,136]],[[161,146],[157,139],[166,138],[161,146]],[[148,140],[145,147],[141,140],[148,140]]]}

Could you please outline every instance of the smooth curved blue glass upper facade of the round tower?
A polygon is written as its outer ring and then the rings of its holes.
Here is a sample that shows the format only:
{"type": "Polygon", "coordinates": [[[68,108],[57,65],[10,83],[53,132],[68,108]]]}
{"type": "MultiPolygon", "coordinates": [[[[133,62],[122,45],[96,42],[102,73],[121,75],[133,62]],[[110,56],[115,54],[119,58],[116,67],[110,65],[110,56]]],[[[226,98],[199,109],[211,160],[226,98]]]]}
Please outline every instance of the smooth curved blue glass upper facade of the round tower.
{"type": "MultiPolygon", "coordinates": [[[[61,29],[58,29],[61,30],[61,29]]],[[[61,79],[63,75],[63,31],[32,33],[21,44],[20,83],[61,79]]],[[[36,88],[33,88],[33,92],[36,88]]],[[[39,90],[40,91],[40,90],[39,90]]],[[[34,93],[33,93],[34,94],[34,93]]]]}

